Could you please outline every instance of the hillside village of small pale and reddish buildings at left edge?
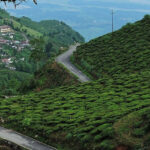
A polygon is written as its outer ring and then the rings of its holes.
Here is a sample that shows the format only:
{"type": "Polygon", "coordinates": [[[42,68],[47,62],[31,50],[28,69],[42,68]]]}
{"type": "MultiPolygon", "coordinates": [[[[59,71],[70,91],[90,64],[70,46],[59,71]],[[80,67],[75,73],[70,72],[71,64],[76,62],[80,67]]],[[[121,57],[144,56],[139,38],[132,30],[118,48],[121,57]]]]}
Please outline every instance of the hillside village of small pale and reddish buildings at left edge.
{"type": "MultiPolygon", "coordinates": [[[[14,56],[10,56],[6,53],[5,49],[7,48],[10,51],[15,50],[17,52],[21,52],[30,46],[27,37],[24,34],[21,36],[22,38],[17,38],[16,31],[13,31],[13,29],[8,25],[0,26],[0,64],[10,70],[16,70],[16,68],[11,65],[15,58],[14,56]]],[[[21,60],[24,61],[24,58],[21,58],[21,60]]]]}

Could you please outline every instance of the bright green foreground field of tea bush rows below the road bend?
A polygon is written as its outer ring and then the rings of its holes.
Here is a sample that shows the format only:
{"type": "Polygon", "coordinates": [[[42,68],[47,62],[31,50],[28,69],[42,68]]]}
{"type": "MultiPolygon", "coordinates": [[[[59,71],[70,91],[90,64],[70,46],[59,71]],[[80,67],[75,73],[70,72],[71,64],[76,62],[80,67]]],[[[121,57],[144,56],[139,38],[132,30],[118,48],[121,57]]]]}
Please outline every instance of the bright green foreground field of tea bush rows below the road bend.
{"type": "Polygon", "coordinates": [[[1,126],[72,150],[149,150],[149,114],[150,71],[0,100],[1,126]]]}

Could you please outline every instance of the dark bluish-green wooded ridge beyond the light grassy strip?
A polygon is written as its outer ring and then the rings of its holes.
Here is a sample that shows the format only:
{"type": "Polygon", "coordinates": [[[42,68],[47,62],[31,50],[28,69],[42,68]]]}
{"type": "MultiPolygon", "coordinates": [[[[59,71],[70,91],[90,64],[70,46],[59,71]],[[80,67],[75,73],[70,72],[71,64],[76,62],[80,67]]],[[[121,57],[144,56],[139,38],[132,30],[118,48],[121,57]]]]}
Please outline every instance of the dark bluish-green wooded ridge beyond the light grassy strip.
{"type": "Polygon", "coordinates": [[[74,42],[84,42],[84,38],[78,32],[75,32],[62,21],[43,20],[35,22],[27,17],[14,17],[14,19],[20,24],[44,34],[44,36],[49,37],[49,40],[57,43],[59,46],[69,46],[74,42]]]}

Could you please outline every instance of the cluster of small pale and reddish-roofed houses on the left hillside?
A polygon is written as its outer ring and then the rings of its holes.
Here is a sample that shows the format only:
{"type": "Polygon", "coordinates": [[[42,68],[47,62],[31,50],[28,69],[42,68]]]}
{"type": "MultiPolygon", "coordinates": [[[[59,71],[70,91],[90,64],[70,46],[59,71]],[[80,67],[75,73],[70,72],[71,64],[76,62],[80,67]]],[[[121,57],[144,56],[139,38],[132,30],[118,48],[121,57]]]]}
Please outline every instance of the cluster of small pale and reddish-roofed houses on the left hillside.
{"type": "Polygon", "coordinates": [[[4,25],[0,26],[0,56],[1,63],[10,70],[16,70],[15,67],[12,67],[13,60],[8,58],[6,54],[3,53],[3,46],[7,45],[10,49],[16,49],[17,51],[22,51],[24,48],[30,46],[29,41],[18,41],[14,40],[15,32],[11,27],[4,25]]]}

